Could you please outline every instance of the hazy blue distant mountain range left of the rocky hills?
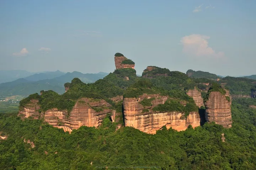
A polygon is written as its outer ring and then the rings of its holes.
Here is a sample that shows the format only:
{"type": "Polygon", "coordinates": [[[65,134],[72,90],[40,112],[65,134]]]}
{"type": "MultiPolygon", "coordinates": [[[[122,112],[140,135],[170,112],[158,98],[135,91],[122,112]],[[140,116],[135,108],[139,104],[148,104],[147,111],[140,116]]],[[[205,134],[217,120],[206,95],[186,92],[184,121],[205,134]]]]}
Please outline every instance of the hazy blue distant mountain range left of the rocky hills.
{"type": "Polygon", "coordinates": [[[94,83],[96,80],[102,79],[106,75],[108,75],[108,73],[63,73],[59,70],[56,72],[36,73],[25,78],[20,78],[7,83],[1,83],[0,96],[27,96],[36,92],[39,93],[41,90],[53,90],[59,94],[62,94],[65,92],[64,84],[71,82],[71,80],[73,80],[75,77],[79,78],[84,83],[94,83]]]}

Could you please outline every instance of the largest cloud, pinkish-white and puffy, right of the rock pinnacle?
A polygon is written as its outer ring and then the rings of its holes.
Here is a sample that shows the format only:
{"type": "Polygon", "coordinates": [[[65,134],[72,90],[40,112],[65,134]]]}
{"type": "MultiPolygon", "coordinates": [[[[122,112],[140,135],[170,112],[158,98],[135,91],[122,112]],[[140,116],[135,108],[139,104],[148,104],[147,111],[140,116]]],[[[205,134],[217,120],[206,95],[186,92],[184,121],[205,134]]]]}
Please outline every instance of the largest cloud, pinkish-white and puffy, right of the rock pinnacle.
{"type": "Polygon", "coordinates": [[[209,36],[192,34],[181,38],[180,42],[183,45],[183,52],[194,56],[208,56],[215,58],[224,57],[224,52],[216,53],[212,47],[208,46],[209,36]]]}

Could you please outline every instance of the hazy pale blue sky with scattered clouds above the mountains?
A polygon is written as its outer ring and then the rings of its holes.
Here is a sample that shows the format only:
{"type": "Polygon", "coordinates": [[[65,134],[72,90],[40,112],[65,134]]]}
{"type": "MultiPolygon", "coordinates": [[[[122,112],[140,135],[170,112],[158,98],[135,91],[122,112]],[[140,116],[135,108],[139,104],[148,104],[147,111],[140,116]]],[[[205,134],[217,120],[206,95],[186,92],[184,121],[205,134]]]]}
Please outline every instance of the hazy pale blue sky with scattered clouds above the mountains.
{"type": "Polygon", "coordinates": [[[255,0],[1,0],[0,70],[113,72],[114,54],[186,73],[256,74],[255,0]]]}

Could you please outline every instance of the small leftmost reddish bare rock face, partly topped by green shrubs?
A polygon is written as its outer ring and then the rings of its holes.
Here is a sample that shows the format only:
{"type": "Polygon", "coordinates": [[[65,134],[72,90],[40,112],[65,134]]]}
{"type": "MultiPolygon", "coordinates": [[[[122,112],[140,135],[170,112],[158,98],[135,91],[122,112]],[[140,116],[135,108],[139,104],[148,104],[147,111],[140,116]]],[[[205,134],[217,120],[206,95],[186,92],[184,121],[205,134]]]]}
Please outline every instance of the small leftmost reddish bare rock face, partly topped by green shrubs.
{"type": "Polygon", "coordinates": [[[19,111],[18,116],[22,118],[33,117],[34,119],[41,118],[41,114],[39,113],[40,106],[38,104],[38,100],[31,100],[26,107],[24,107],[21,111],[19,111]]]}

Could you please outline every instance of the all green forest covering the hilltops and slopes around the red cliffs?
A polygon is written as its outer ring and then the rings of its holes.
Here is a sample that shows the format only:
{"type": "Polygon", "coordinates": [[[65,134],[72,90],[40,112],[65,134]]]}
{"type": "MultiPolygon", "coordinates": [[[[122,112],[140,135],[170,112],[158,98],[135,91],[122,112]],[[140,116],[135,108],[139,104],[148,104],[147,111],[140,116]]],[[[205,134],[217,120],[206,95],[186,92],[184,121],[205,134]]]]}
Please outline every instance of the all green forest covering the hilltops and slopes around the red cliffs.
{"type": "MultiPolygon", "coordinates": [[[[74,78],[64,85],[69,90],[63,95],[42,90],[41,95],[32,94],[21,100],[20,109],[35,99],[39,101],[40,112],[50,108],[70,112],[77,100],[87,97],[104,99],[117,113],[121,113],[122,101],[114,103],[111,97],[160,94],[169,96],[169,99],[154,107],[154,111],[180,111],[186,117],[192,111],[204,113],[205,108],[198,108],[193,98],[186,94],[194,87],[203,90],[202,96],[207,100],[212,91],[224,95],[223,85],[231,95],[250,95],[255,86],[255,82],[247,78],[227,77],[214,81],[188,77],[185,73],[167,69],[158,69],[150,74],[166,72],[168,76],[145,78],[137,77],[131,68],[117,69],[88,84],[74,78]],[[203,83],[210,83],[210,86],[203,83]]],[[[143,112],[148,112],[145,107],[151,106],[152,100],[154,98],[140,101],[143,112]]],[[[251,106],[256,106],[255,98],[232,100],[233,124],[230,129],[213,122],[194,129],[189,126],[180,132],[163,126],[154,135],[123,125],[117,129],[120,122],[113,123],[110,116],[103,119],[97,128],[82,126],[69,134],[44,123],[43,119],[22,120],[16,112],[3,112],[0,114],[0,136],[7,136],[7,140],[0,140],[0,167],[4,170],[254,170],[256,109],[251,106]],[[225,142],[221,138],[223,133],[225,142]],[[28,140],[35,146],[31,147],[28,140]]]]}

